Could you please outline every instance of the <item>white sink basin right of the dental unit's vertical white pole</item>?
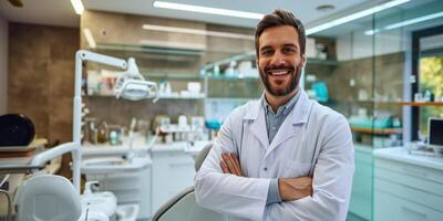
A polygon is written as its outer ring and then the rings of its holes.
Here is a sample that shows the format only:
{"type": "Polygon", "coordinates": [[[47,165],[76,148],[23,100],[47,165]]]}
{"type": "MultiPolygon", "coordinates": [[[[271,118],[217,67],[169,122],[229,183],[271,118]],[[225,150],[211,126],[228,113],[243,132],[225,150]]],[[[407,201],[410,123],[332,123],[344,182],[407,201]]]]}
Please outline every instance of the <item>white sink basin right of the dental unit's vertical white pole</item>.
{"type": "Polygon", "coordinates": [[[83,160],[82,173],[115,173],[140,170],[151,165],[147,157],[135,157],[131,161],[121,157],[101,157],[83,160]]]}

